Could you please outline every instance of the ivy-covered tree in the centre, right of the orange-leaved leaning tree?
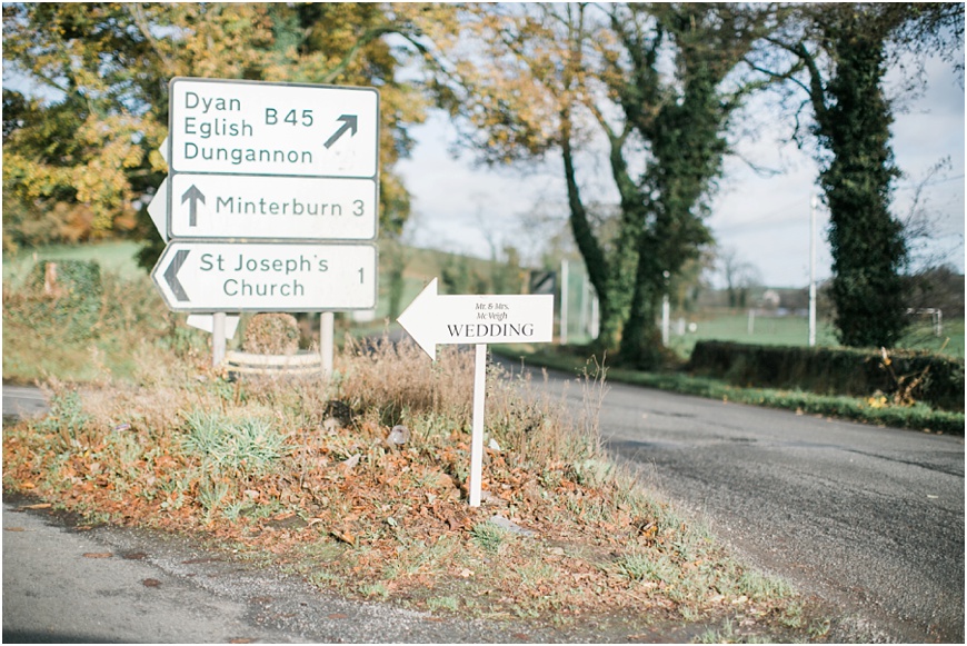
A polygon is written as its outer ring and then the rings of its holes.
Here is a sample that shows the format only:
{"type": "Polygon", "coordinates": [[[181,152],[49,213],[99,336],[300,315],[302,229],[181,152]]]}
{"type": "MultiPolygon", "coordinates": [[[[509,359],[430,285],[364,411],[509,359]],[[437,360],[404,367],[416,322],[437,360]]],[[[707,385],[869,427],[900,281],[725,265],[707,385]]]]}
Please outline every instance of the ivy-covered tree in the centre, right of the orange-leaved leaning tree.
{"type": "Polygon", "coordinates": [[[662,361],[658,307],[668,294],[668,278],[712,242],[705,219],[729,150],[726,131],[742,99],[762,85],[739,68],[767,34],[772,17],[768,6],[721,3],[634,4],[611,11],[624,54],[610,57],[617,68],[611,87],[650,153],[636,186],[645,221],[621,339],[625,360],[641,367],[662,361]],[[666,40],[674,44],[671,76],[658,70],[666,40]]]}

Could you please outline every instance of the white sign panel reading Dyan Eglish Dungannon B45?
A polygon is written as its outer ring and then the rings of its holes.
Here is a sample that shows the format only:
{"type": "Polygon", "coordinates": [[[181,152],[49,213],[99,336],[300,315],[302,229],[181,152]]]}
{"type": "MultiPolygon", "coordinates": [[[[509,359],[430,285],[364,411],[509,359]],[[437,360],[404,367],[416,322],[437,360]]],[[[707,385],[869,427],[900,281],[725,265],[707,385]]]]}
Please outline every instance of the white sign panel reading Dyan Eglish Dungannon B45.
{"type": "Polygon", "coordinates": [[[379,92],[296,83],[176,78],[172,172],[375,178],[379,92]]]}

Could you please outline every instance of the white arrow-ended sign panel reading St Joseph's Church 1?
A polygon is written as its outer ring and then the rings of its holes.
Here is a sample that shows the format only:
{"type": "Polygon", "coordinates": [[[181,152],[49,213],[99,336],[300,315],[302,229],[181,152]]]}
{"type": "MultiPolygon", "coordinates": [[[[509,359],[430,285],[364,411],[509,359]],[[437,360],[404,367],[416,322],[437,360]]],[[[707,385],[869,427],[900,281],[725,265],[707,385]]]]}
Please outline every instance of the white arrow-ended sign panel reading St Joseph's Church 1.
{"type": "Polygon", "coordinates": [[[371,309],[375,245],[173,240],[151,272],[175,311],[371,309]]]}

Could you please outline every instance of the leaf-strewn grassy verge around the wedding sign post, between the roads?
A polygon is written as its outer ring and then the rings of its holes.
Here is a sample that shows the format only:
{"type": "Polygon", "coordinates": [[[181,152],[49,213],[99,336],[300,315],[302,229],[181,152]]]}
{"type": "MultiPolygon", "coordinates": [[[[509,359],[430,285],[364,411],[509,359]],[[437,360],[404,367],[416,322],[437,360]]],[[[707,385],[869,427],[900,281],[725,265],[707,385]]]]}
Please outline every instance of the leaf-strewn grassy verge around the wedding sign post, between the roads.
{"type": "MultiPolygon", "coordinates": [[[[491,368],[484,505],[467,504],[472,355],[349,344],[338,377],[228,381],[137,352],[133,380],[50,380],[3,430],[3,486],[92,521],[208,534],[349,597],[567,625],[729,622],[805,639],[805,606],[608,463],[586,410],[491,368]]],[[[821,627],[820,630],[821,633],[821,627]]]]}

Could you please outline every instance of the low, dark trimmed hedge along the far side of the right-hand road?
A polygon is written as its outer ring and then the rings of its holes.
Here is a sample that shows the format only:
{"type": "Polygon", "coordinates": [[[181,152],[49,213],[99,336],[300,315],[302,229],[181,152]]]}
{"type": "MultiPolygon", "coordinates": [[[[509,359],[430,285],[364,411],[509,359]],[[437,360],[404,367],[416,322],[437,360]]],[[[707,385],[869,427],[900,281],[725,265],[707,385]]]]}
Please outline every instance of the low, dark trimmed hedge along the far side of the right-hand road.
{"type": "Polygon", "coordinates": [[[929,352],[890,350],[885,358],[883,350],[873,349],[699,341],[687,369],[742,387],[853,397],[883,394],[964,411],[964,361],[929,352]]]}

